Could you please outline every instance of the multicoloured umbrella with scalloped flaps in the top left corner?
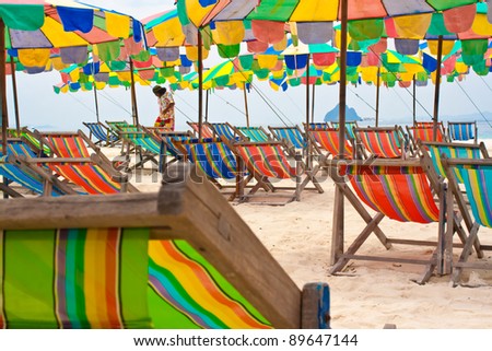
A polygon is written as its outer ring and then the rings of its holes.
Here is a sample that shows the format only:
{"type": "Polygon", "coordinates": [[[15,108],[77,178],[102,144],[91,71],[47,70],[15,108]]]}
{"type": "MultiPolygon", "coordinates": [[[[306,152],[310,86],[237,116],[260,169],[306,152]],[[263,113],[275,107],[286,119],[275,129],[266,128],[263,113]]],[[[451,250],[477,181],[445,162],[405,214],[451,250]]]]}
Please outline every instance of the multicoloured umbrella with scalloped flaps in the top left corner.
{"type": "MultiPolygon", "coordinates": [[[[52,50],[65,63],[80,63],[92,50],[103,60],[137,54],[143,27],[115,11],[70,0],[0,0],[0,51],[27,67],[46,67],[52,50]],[[125,52],[121,48],[125,48],[125,52]]],[[[2,142],[7,145],[5,59],[0,55],[2,142]]]]}

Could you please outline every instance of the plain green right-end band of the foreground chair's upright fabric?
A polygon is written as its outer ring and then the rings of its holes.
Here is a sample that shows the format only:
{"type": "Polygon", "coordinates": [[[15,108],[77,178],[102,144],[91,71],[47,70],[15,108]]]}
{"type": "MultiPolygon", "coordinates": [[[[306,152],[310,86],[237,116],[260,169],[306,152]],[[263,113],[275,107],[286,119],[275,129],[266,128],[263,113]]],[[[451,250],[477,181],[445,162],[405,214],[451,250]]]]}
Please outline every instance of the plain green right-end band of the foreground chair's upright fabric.
{"type": "Polygon", "coordinates": [[[147,302],[149,236],[149,229],[125,229],[121,234],[119,297],[126,328],[151,327],[147,302]]]}

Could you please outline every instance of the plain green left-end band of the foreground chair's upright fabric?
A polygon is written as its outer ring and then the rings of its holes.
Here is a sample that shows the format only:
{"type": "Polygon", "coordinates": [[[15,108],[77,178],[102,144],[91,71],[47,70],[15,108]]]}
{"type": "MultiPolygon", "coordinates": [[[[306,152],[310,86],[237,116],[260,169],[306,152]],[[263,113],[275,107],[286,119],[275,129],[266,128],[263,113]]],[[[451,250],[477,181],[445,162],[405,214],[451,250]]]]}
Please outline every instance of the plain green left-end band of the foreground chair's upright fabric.
{"type": "Polygon", "coordinates": [[[7,232],[4,308],[10,328],[58,327],[54,247],[54,231],[7,232]]]}

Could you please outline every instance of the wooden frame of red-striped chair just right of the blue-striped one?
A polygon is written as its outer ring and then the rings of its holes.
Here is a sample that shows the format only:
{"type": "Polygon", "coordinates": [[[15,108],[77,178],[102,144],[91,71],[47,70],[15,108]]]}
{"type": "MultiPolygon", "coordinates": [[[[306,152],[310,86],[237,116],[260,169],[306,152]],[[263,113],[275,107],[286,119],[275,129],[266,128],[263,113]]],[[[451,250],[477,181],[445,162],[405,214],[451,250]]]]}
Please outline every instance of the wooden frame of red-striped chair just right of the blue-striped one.
{"type": "MultiPolygon", "coordinates": [[[[291,202],[293,200],[300,201],[301,200],[301,192],[303,190],[317,190],[319,194],[324,192],[323,187],[319,185],[319,182],[316,179],[316,174],[319,171],[319,166],[316,165],[313,169],[308,168],[307,165],[303,162],[302,155],[296,154],[294,156],[295,160],[295,166],[292,167],[293,171],[295,171],[294,182],[295,187],[284,187],[284,186],[274,186],[272,182],[270,180],[270,177],[272,177],[271,174],[262,173],[258,167],[256,167],[256,163],[259,163],[260,165],[267,167],[267,168],[274,168],[276,172],[284,173],[283,171],[279,169],[279,167],[289,167],[290,165],[285,164],[279,164],[279,162],[286,163],[288,159],[291,157],[291,153],[288,151],[290,149],[290,145],[285,143],[285,141],[270,141],[270,142],[249,142],[249,141],[241,141],[232,143],[231,141],[226,140],[225,138],[222,139],[223,142],[225,142],[229,148],[234,152],[234,154],[237,157],[237,164],[238,167],[245,167],[250,176],[253,176],[257,184],[254,186],[248,194],[245,194],[244,189],[244,183],[239,184],[239,201],[245,202],[249,201],[250,198],[255,196],[255,194],[260,189],[263,188],[267,191],[278,191],[278,190],[294,190],[293,195],[276,195],[279,197],[285,197],[288,199],[288,202],[291,202]],[[247,152],[243,153],[241,150],[245,148],[276,148],[278,154],[278,157],[276,157],[274,165],[271,165],[270,160],[268,157],[265,157],[266,154],[258,153],[256,160],[251,159],[251,155],[249,155],[247,152]],[[251,160],[255,164],[251,164],[251,160]],[[302,173],[306,175],[304,180],[302,179],[302,173]],[[307,188],[307,184],[312,183],[314,185],[314,188],[307,188]]],[[[292,157],[291,157],[292,159],[292,157]]],[[[284,179],[285,177],[282,177],[284,179]]]]}

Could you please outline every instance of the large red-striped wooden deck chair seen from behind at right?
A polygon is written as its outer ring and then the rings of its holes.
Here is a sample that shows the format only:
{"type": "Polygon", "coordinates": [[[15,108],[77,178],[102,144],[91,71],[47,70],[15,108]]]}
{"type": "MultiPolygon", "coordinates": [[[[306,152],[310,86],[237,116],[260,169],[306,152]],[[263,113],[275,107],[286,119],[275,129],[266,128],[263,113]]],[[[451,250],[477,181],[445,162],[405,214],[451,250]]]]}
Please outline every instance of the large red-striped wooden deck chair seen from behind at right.
{"type": "MultiPolygon", "coordinates": [[[[337,221],[343,221],[343,219],[338,218],[333,221],[331,273],[340,272],[350,260],[358,259],[423,265],[425,269],[417,280],[418,283],[425,283],[436,268],[437,273],[444,273],[445,265],[449,266],[449,261],[446,262],[443,257],[446,225],[445,187],[432,172],[432,166],[425,165],[424,159],[375,159],[371,162],[327,160],[326,163],[336,186],[367,223],[352,244],[344,249],[343,232],[340,232],[337,226],[337,221]],[[364,204],[376,211],[376,214],[374,217],[370,214],[364,204]],[[415,241],[411,235],[402,238],[387,237],[378,226],[384,218],[424,224],[436,222],[438,227],[436,241],[415,241]],[[390,249],[393,244],[409,244],[431,246],[434,250],[432,255],[422,259],[396,255],[358,255],[356,253],[372,233],[386,249],[390,249]]],[[[333,218],[336,215],[338,214],[335,213],[333,218]]]]}

